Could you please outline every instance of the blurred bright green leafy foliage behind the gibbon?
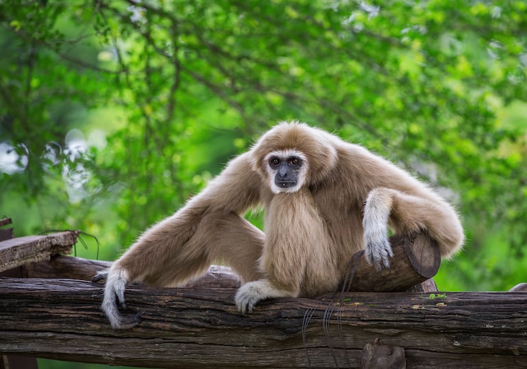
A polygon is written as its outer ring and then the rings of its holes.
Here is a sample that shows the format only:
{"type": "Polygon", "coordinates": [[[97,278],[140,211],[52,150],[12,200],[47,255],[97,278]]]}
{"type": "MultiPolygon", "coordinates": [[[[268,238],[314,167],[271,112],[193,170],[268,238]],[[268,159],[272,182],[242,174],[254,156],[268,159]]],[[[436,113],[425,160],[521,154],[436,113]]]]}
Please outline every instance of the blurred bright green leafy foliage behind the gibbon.
{"type": "Polygon", "coordinates": [[[465,251],[440,290],[509,290],[527,281],[525,14],[522,0],[1,0],[0,216],[16,236],[81,229],[112,260],[298,119],[459,209],[465,251]]]}

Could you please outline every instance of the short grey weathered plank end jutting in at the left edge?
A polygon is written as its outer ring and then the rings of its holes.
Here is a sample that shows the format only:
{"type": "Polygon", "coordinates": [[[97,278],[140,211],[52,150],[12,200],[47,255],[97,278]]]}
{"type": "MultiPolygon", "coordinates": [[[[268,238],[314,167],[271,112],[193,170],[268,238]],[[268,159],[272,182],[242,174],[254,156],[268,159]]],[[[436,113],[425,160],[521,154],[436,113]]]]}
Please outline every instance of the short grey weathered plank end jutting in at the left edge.
{"type": "Polygon", "coordinates": [[[71,253],[77,242],[76,231],[64,231],[49,236],[25,236],[0,242],[0,272],[49,260],[51,255],[71,253]]]}

